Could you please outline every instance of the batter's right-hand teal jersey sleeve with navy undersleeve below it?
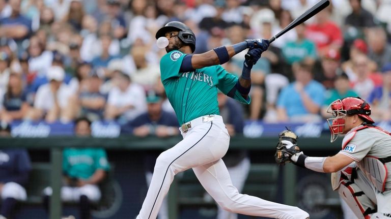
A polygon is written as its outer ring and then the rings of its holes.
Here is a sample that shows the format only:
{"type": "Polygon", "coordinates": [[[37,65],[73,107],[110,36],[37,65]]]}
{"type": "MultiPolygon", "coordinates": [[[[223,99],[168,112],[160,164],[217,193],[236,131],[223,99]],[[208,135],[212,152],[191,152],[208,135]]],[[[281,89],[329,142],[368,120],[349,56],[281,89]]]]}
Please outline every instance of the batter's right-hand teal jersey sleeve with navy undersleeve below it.
{"type": "MultiPolygon", "coordinates": [[[[221,92],[223,92],[225,95],[227,95],[228,92],[230,92],[230,90],[235,86],[239,78],[227,72],[220,65],[216,66],[216,73],[218,78],[217,88],[221,90],[221,92]]],[[[248,96],[247,99],[244,99],[241,93],[237,90],[235,91],[233,98],[243,104],[250,104],[251,102],[250,96],[248,96]]]]}

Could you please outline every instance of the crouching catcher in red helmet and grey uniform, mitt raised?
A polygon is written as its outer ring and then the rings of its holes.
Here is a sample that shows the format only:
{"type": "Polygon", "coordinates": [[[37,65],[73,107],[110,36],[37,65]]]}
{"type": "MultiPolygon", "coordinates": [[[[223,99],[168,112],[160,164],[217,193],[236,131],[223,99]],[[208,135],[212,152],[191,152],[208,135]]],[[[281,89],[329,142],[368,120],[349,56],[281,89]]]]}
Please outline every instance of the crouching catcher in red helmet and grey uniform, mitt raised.
{"type": "Polygon", "coordinates": [[[332,173],[333,190],[338,190],[354,214],[362,219],[391,218],[391,134],[374,126],[370,105],[348,97],[334,101],[327,109],[331,142],[345,134],[342,149],[332,157],[309,157],[296,144],[291,131],[280,133],[275,160],[317,172],[332,173]]]}

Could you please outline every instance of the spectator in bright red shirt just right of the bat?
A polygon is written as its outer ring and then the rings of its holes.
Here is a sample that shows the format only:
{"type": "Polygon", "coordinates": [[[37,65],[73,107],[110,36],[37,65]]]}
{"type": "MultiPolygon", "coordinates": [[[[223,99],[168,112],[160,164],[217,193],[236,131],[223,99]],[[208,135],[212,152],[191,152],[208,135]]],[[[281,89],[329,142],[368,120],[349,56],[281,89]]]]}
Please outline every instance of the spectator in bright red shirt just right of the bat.
{"type": "Polygon", "coordinates": [[[325,9],[316,15],[316,22],[307,26],[305,36],[315,42],[319,55],[330,48],[339,50],[343,44],[341,28],[330,20],[330,11],[325,9]]]}

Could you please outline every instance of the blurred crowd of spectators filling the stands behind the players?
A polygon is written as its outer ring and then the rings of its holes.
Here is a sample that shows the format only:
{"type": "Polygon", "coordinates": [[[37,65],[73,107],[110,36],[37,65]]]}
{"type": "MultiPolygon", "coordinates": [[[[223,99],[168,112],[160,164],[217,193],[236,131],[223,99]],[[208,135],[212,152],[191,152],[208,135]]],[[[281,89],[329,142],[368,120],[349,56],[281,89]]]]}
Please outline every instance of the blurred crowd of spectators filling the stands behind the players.
{"type": "MultiPolygon", "coordinates": [[[[160,82],[154,35],[179,20],[195,53],[269,39],[316,0],[0,0],[0,119],[131,122],[147,93],[173,113],[160,82]]],[[[390,119],[389,0],[334,0],[274,41],[252,72],[244,117],[316,121],[336,98],[359,96],[390,119]]],[[[240,74],[244,54],[224,68],[240,74]]]]}

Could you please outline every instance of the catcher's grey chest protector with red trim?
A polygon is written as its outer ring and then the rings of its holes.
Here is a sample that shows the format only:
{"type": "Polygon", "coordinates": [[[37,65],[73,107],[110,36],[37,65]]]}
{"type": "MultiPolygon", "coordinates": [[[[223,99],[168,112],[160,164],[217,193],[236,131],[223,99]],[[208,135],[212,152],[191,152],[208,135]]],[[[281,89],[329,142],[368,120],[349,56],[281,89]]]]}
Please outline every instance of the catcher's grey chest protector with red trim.
{"type": "MultiPolygon", "coordinates": [[[[388,135],[391,135],[389,132],[386,132],[378,127],[363,126],[360,129],[357,129],[354,132],[349,133],[348,135],[345,136],[342,143],[342,149],[344,149],[346,145],[349,143],[349,141],[353,139],[357,131],[367,129],[367,128],[378,129],[388,135]]],[[[389,158],[381,159],[381,160],[382,161],[389,160],[389,158]]],[[[360,162],[358,162],[357,165],[360,168],[360,170],[364,172],[367,178],[373,183],[375,188],[380,192],[384,192],[385,181],[387,179],[388,170],[387,167],[385,166],[385,163],[383,163],[381,160],[379,160],[376,157],[367,156],[364,159],[362,159],[360,162]]]]}

